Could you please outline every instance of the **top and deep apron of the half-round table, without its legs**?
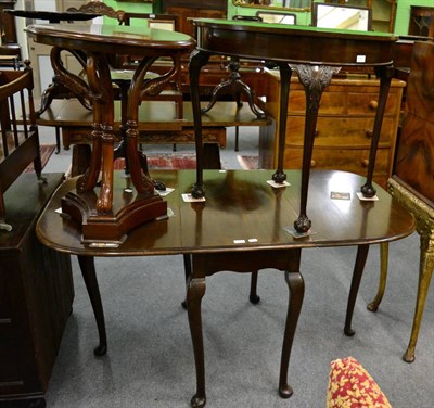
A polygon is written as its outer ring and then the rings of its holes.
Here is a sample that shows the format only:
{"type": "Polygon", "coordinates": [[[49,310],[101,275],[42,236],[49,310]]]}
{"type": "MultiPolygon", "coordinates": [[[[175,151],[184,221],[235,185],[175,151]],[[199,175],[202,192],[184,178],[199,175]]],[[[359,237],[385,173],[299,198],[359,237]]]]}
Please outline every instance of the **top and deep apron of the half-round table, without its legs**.
{"type": "Polygon", "coordinates": [[[316,65],[390,65],[391,46],[397,40],[391,34],[246,21],[195,18],[193,25],[200,51],[316,65]],[[282,47],[283,37],[291,47],[282,47]]]}

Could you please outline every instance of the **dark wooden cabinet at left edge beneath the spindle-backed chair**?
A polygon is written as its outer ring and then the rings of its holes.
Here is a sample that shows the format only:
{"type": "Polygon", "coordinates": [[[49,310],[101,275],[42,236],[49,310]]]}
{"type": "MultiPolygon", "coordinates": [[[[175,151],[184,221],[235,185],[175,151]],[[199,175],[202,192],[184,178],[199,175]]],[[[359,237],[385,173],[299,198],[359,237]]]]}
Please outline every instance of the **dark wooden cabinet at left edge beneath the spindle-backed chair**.
{"type": "Polygon", "coordinates": [[[13,229],[0,233],[1,407],[27,407],[31,401],[37,401],[33,407],[44,407],[72,311],[69,255],[47,248],[35,233],[36,220],[63,175],[47,178],[41,183],[35,174],[22,175],[5,193],[7,220],[13,229]]]}

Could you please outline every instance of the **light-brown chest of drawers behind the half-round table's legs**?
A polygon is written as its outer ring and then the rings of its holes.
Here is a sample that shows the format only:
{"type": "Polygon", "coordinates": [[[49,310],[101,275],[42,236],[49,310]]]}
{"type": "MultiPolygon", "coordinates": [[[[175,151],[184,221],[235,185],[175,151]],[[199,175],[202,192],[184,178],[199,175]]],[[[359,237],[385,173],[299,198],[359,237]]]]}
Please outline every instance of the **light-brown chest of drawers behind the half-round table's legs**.
{"type": "MultiPolygon", "coordinates": [[[[260,105],[275,119],[259,136],[259,164],[277,165],[280,76],[267,72],[266,102],[260,105]]],[[[339,169],[365,176],[379,98],[376,79],[348,76],[333,79],[322,94],[317,122],[311,168],[339,169]]],[[[393,80],[376,153],[374,181],[386,186],[392,175],[404,81],[393,80]]],[[[285,168],[301,168],[303,160],[305,91],[297,78],[291,80],[285,140],[285,168]]]]}

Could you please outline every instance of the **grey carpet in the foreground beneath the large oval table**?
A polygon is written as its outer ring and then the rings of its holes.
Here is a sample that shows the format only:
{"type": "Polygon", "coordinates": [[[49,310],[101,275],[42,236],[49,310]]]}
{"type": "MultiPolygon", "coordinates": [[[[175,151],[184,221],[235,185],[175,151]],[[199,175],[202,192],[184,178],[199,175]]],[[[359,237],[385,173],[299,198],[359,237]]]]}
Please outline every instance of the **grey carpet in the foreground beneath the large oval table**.
{"type": "MultiPolygon", "coordinates": [[[[434,406],[434,299],[429,294],[416,350],[406,364],[418,284],[419,237],[391,243],[390,278],[376,314],[367,310],[379,276],[372,246],[354,314],[343,333],[355,247],[303,253],[306,293],[290,364],[290,399],[278,395],[288,286],[279,271],[259,273],[261,302],[248,303],[248,275],[207,279],[203,326],[207,407],[324,407],[330,361],[354,356],[394,408],[434,406]]],[[[186,408],[195,390],[182,258],[98,258],[108,353],[93,356],[98,334],[74,262],[76,298],[54,368],[47,406],[186,408]]],[[[431,290],[433,292],[433,290],[431,290]]]]}

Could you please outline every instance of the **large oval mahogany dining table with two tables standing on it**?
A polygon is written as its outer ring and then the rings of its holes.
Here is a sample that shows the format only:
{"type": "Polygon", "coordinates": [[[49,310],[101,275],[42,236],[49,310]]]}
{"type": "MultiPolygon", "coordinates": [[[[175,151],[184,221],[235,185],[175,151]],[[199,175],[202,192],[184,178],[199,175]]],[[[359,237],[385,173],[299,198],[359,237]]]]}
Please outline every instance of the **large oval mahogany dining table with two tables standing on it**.
{"type": "MultiPolygon", "coordinates": [[[[116,194],[133,199],[130,180],[123,175],[123,171],[115,171],[116,194]]],[[[350,173],[311,171],[307,209],[315,228],[312,234],[301,238],[289,232],[298,216],[303,182],[299,170],[288,170],[290,186],[279,188],[267,182],[272,178],[271,170],[204,170],[206,201],[193,203],[183,201],[181,194],[189,193],[194,186],[194,170],[159,170],[155,176],[175,189],[165,197],[174,216],[140,225],[120,244],[84,243],[80,225],[56,212],[65,193],[74,189],[76,179],[67,180],[54,193],[36,230],[48,247],[78,256],[99,329],[100,344],[95,349],[99,355],[106,352],[107,345],[93,257],[174,254],[191,257],[187,309],[196,369],[192,407],[203,407],[206,403],[201,317],[206,277],[222,270],[251,272],[272,268],[284,271],[290,301],[279,392],[282,397],[289,397],[293,391],[288,382],[288,369],[304,297],[299,270],[302,250],[358,245],[345,319],[345,333],[353,335],[353,310],[370,244],[398,240],[414,230],[410,213],[381,187],[375,186],[378,201],[359,200],[357,192],[365,178],[350,173]]],[[[163,270],[156,272],[164,273],[163,270]]]]}

